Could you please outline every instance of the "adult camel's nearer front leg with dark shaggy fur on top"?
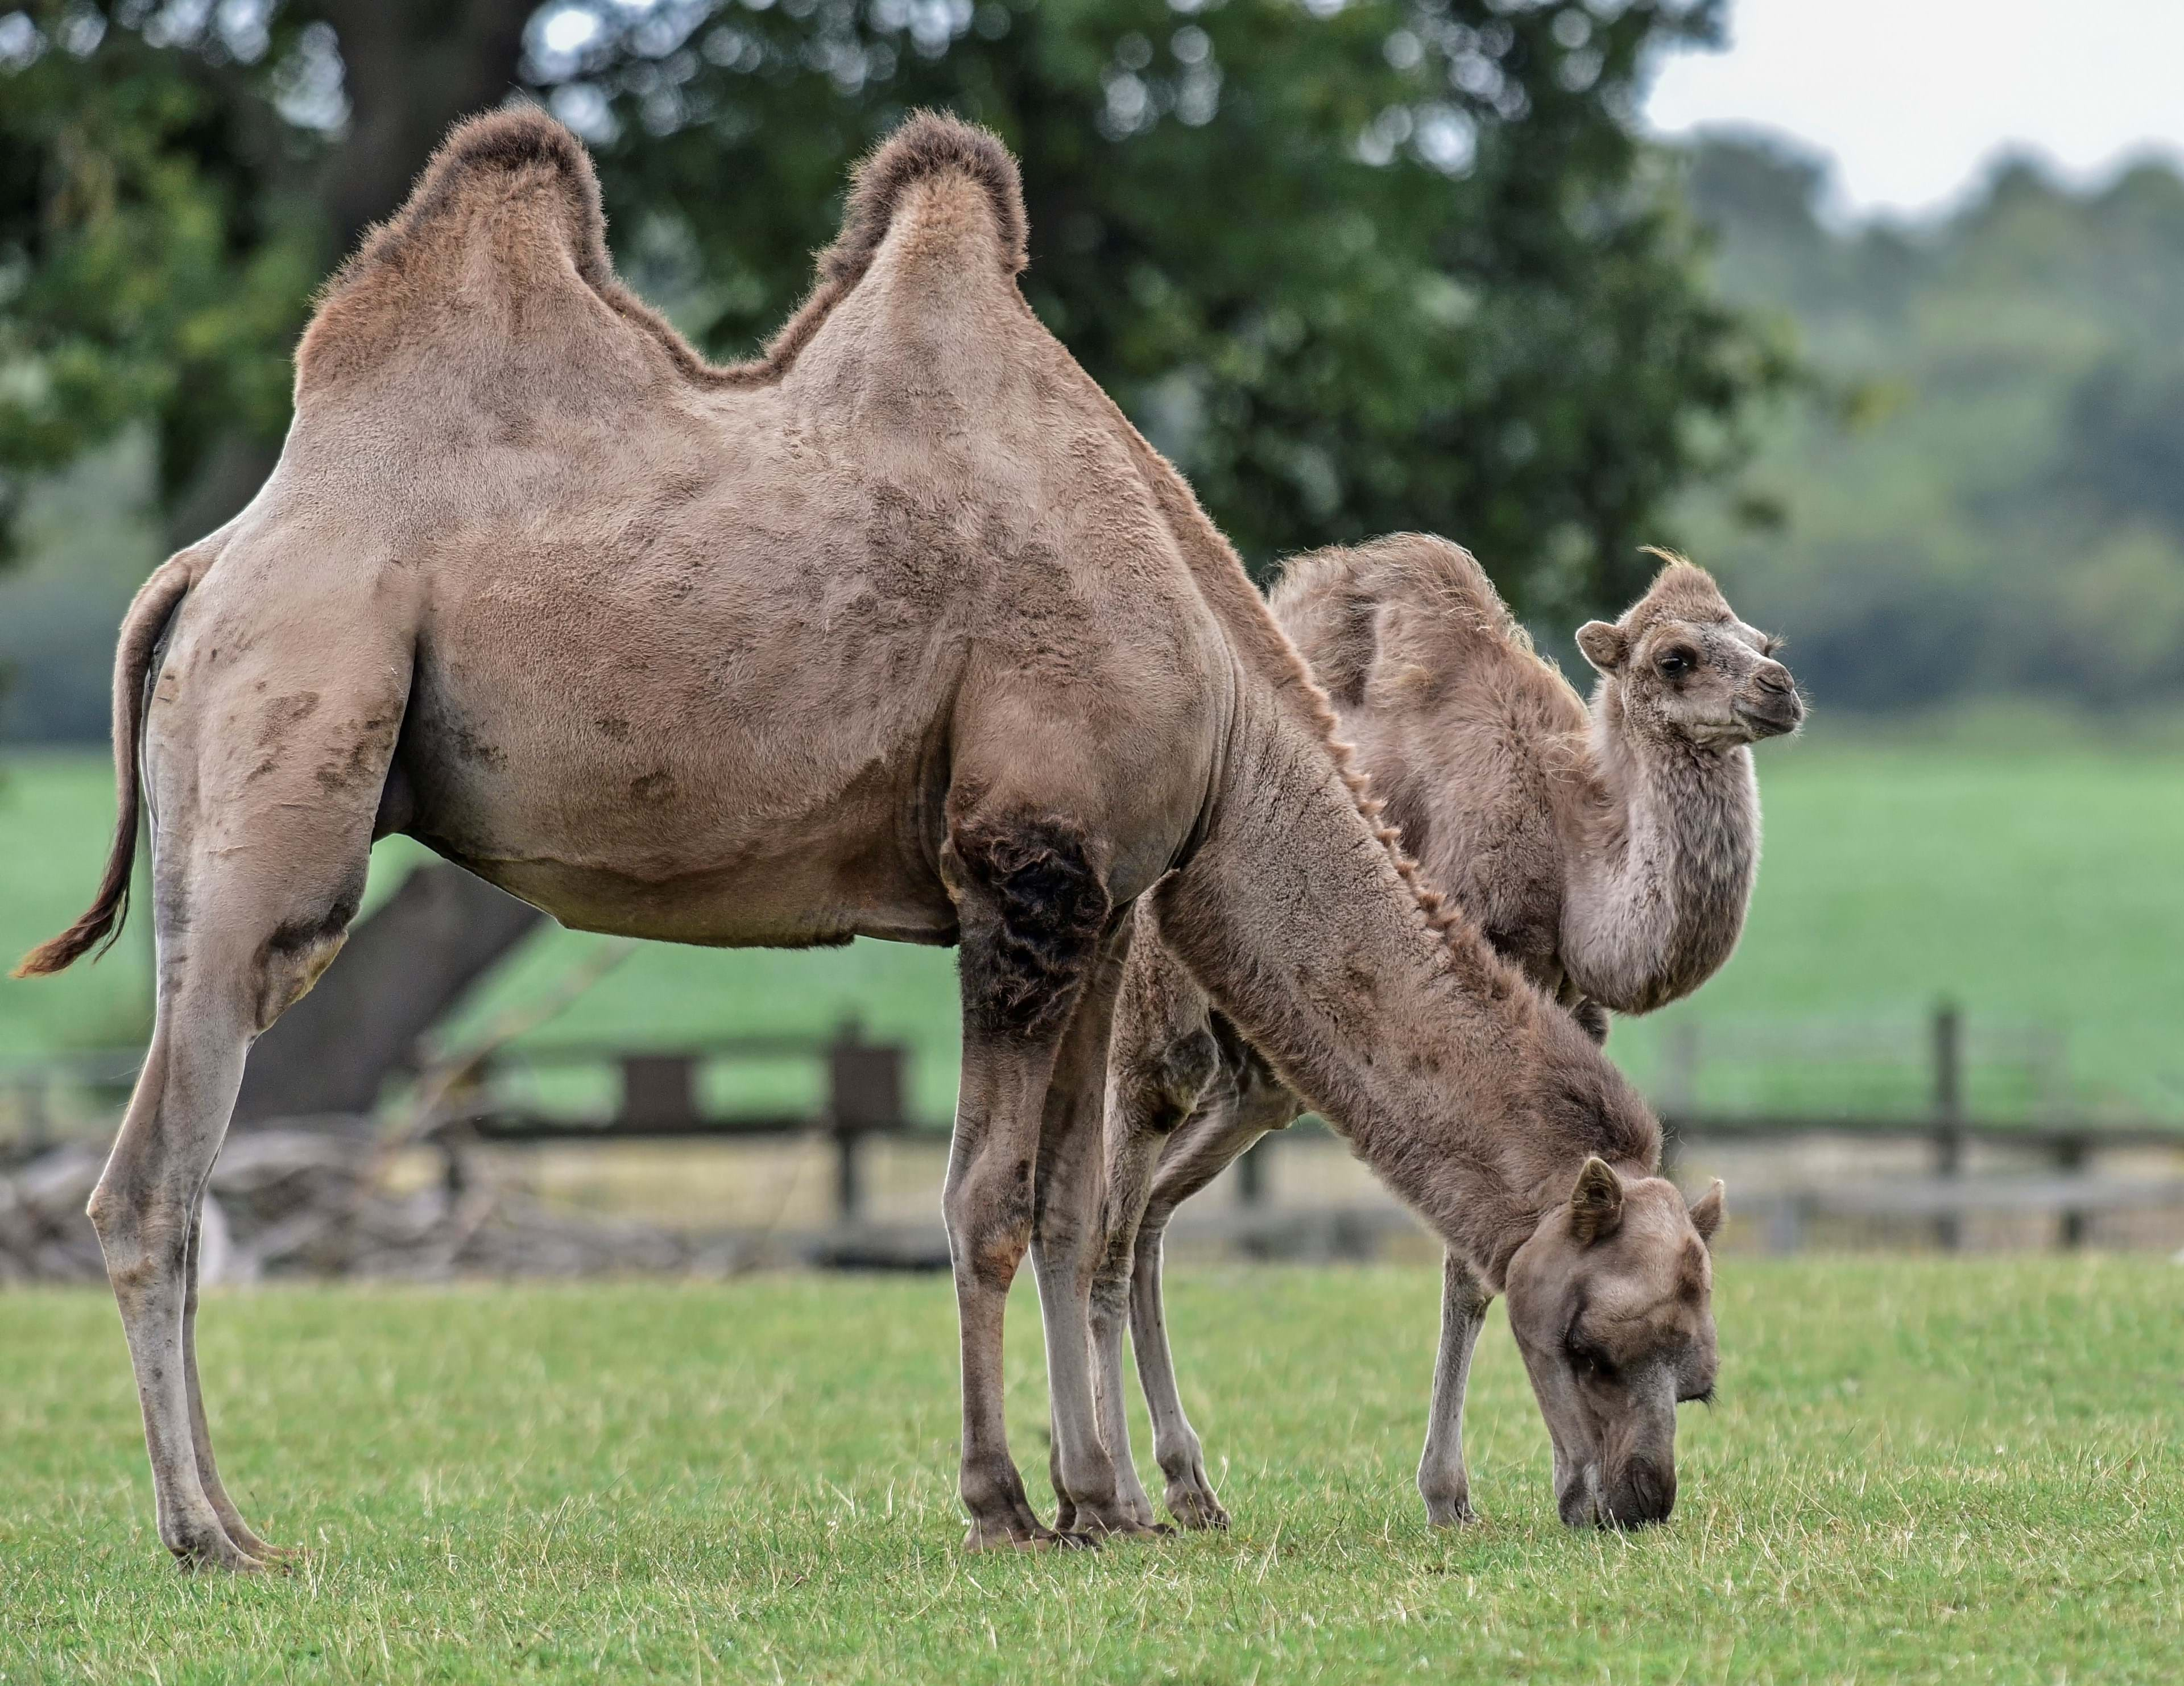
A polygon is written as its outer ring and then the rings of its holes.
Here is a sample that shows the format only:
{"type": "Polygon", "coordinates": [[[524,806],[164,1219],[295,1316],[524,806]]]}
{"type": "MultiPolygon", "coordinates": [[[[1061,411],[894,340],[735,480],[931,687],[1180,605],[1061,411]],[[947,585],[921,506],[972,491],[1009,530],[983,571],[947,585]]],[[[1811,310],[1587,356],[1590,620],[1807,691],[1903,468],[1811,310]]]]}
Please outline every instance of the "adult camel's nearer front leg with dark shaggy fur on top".
{"type": "MultiPolygon", "coordinates": [[[[963,1083],[943,1210],[963,1341],[965,1544],[1081,1544],[1083,1535],[1040,1524],[1009,1457],[1002,1315],[1031,1245],[1046,1099],[1096,970],[1107,891],[1083,843],[1042,819],[959,821],[941,874],[957,902],[963,976],[963,1083]]],[[[1090,1404],[1072,1411],[1066,1402],[1072,1385],[1085,1387],[1081,1317],[1075,1343],[1057,1341],[1048,1363],[1057,1428],[1090,1424],[1090,1404]]],[[[1099,1461],[1083,1446],[1057,1457],[1088,1474],[1099,1461]]]]}

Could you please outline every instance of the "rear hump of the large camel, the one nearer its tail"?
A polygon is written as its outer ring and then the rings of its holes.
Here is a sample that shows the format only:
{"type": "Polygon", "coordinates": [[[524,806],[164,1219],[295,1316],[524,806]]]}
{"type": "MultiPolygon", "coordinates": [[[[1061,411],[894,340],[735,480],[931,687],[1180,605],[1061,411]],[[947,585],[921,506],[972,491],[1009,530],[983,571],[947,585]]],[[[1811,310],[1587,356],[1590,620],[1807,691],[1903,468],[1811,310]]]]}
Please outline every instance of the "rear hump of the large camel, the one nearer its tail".
{"type": "Polygon", "coordinates": [[[465,118],[448,131],[393,216],[373,227],[319,297],[297,347],[299,391],[408,343],[465,308],[566,286],[570,266],[614,295],[607,216],[592,157],[537,107],[465,118]],[[465,286],[478,262],[502,288],[465,286]]]}

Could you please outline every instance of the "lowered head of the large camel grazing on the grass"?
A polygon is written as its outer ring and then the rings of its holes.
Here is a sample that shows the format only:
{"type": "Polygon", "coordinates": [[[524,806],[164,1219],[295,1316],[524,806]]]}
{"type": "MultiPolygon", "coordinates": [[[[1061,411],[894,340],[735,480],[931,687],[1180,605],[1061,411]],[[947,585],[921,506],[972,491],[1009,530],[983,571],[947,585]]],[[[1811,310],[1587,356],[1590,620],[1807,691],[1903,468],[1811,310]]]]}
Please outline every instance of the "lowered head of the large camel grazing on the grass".
{"type": "Polygon", "coordinates": [[[1592,1157],[1509,1260],[1509,1330],[1572,1529],[1645,1527],[1675,1509],[1675,1406],[1712,1398],[1719,1363],[1717,1227],[1719,1182],[1686,1208],[1664,1177],[1592,1157]]]}

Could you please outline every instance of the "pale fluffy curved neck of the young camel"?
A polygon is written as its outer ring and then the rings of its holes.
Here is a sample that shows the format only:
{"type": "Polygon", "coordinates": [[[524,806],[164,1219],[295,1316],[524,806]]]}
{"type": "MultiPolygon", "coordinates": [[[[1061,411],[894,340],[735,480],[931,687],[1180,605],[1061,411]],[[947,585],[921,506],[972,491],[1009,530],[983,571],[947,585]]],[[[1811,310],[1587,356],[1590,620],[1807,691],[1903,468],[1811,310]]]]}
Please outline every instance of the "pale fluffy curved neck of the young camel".
{"type": "Polygon", "coordinates": [[[1640,734],[1603,684],[1592,701],[1592,769],[1562,961],[1603,1007],[1649,1013],[1721,970],[1743,933],[1760,863],[1752,751],[1640,734]]]}

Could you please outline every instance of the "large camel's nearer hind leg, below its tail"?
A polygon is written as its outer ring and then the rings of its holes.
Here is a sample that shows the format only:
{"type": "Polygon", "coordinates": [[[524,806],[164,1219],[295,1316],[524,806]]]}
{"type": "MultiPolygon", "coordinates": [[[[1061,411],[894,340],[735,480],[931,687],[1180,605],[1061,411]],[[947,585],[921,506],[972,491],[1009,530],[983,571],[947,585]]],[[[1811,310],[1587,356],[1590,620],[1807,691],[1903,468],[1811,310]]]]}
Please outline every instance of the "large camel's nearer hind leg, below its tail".
{"type": "Polygon", "coordinates": [[[129,1337],[159,1540],[186,1566],[251,1570],[269,1548],[227,1498],[197,1385],[194,1236],[251,1040],[356,915],[400,697],[384,694],[387,666],[347,699],[319,677],[308,708],[273,692],[238,710],[234,684],[192,677],[162,681],[149,723],[157,1020],[90,1214],[129,1337]],[[264,729],[245,749],[229,738],[251,712],[264,729]]]}

